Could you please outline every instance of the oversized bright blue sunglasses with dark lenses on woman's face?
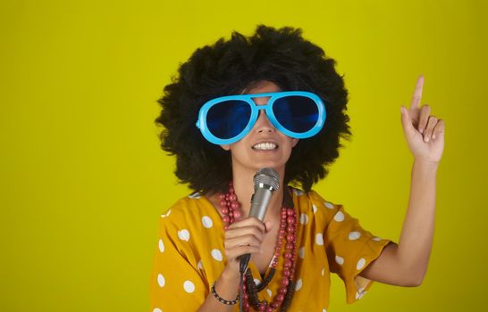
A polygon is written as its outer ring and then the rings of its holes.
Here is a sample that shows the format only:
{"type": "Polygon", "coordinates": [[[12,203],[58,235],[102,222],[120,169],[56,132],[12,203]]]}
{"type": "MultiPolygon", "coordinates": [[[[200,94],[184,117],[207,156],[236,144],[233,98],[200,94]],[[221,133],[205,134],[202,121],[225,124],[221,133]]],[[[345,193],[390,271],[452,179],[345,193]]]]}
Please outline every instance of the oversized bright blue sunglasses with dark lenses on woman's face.
{"type": "Polygon", "coordinates": [[[265,110],[273,127],[282,134],[299,139],[316,135],[324,127],[326,117],[324,102],[311,92],[226,95],[201,107],[197,127],[213,144],[232,144],[248,135],[260,110],[265,110]],[[268,96],[265,105],[257,105],[252,100],[268,96]]]}

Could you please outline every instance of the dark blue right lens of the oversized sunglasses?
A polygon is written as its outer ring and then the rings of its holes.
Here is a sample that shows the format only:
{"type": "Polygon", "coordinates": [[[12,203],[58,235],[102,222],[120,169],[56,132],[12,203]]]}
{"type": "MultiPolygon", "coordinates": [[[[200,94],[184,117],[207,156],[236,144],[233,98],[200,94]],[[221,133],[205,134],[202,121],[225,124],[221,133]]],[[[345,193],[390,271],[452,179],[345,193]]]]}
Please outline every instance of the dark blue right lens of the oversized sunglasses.
{"type": "Polygon", "coordinates": [[[273,114],[276,120],[295,133],[306,133],[318,120],[316,102],[306,96],[290,95],[277,99],[273,103],[273,114]]]}

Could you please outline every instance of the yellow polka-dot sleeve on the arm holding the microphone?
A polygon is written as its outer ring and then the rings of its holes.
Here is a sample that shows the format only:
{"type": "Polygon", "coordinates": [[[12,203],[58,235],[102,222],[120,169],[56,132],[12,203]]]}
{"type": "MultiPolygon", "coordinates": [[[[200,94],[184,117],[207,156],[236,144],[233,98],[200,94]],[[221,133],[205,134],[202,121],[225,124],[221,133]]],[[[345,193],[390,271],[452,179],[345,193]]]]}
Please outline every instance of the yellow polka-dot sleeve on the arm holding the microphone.
{"type": "Polygon", "coordinates": [[[192,233],[177,213],[160,218],[150,280],[151,312],[197,311],[206,299],[207,285],[192,252],[192,233]]]}

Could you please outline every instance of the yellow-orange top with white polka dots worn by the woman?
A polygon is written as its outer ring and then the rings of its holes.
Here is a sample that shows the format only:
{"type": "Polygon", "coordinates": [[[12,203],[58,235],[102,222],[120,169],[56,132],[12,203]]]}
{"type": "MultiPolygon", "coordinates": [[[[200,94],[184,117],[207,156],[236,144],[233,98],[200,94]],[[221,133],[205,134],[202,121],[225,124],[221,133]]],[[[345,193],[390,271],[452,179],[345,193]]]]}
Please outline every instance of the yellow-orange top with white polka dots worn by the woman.
{"type": "MultiPolygon", "coordinates": [[[[360,299],[373,281],[358,274],[391,241],[363,229],[342,205],[325,201],[314,191],[290,189],[299,227],[295,293],[289,311],[326,311],[331,272],[344,282],[348,303],[360,299]]],[[[161,216],[158,236],[150,277],[150,311],[197,311],[225,267],[220,214],[205,196],[193,193],[161,216]]],[[[281,261],[271,282],[258,292],[259,300],[270,302],[279,290],[281,261]]],[[[249,268],[255,283],[261,283],[252,260],[249,268]]],[[[232,311],[239,311],[239,305],[232,311]]]]}

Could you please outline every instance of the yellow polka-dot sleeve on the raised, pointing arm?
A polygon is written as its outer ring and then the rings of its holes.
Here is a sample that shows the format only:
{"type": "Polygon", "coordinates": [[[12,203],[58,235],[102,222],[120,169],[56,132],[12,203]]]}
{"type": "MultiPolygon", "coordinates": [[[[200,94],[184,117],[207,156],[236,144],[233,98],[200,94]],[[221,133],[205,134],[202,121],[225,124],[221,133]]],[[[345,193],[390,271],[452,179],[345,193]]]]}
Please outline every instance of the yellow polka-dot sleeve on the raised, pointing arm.
{"type": "Polygon", "coordinates": [[[371,234],[359,225],[342,205],[322,201],[327,226],[324,229],[324,245],[330,271],[341,277],[346,287],[346,300],[352,303],[362,298],[373,281],[359,276],[371,262],[377,259],[391,241],[371,234]]]}

